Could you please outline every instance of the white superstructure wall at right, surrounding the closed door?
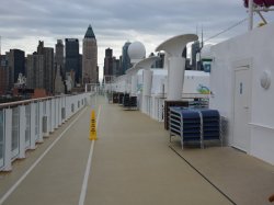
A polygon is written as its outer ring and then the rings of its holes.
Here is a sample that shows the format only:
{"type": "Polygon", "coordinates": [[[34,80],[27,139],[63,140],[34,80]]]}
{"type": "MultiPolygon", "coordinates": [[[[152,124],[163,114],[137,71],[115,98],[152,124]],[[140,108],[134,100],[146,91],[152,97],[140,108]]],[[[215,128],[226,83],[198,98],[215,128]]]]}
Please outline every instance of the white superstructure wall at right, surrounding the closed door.
{"type": "Polygon", "coordinates": [[[209,101],[209,106],[219,110],[227,118],[227,141],[230,146],[235,146],[237,139],[241,137],[233,134],[237,126],[233,124],[237,105],[235,104],[237,103],[236,71],[244,67],[250,70],[251,88],[248,88],[251,90],[250,105],[244,107],[250,112],[246,151],[272,164],[274,164],[273,33],[274,24],[269,24],[213,46],[209,101]],[[261,86],[261,78],[265,71],[272,81],[269,89],[261,86]]]}

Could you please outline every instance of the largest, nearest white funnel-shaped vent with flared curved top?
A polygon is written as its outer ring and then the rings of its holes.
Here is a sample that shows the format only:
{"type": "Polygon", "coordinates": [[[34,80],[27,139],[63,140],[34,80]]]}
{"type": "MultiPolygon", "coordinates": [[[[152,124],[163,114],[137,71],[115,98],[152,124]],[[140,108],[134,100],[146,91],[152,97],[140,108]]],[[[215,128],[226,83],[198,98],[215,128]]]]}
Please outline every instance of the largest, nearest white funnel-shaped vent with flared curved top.
{"type": "MultiPolygon", "coordinates": [[[[195,34],[184,34],[167,39],[160,44],[156,52],[164,50],[168,58],[168,100],[181,100],[185,70],[183,49],[190,42],[197,41],[195,34]]],[[[167,58],[165,58],[167,59],[167,58]]]]}

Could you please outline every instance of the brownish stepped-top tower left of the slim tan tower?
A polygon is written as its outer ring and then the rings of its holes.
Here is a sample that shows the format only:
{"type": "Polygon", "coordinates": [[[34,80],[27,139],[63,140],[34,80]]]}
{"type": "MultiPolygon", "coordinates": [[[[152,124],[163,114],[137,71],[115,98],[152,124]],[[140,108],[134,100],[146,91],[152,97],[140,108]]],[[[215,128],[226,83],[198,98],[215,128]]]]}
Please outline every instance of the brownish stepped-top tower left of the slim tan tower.
{"type": "Polygon", "coordinates": [[[54,93],[54,79],[55,79],[55,69],[54,69],[54,48],[44,47],[44,42],[39,41],[37,47],[37,55],[44,56],[44,89],[54,93]]]}

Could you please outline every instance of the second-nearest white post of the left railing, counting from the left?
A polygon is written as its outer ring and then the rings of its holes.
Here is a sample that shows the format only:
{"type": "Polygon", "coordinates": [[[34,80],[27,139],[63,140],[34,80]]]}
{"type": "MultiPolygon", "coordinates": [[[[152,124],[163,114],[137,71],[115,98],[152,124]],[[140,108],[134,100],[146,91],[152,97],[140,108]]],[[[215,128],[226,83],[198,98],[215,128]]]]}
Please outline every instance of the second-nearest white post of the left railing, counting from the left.
{"type": "Polygon", "coordinates": [[[26,122],[25,122],[25,106],[19,106],[19,158],[25,158],[25,129],[26,129],[26,122]]]}

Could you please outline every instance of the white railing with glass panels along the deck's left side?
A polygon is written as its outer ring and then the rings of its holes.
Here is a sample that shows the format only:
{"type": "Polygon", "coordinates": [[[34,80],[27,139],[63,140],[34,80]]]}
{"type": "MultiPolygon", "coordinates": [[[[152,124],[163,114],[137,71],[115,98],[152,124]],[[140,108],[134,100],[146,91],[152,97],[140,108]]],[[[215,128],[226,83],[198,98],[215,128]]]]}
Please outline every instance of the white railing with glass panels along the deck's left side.
{"type": "Polygon", "coordinates": [[[25,158],[27,149],[49,136],[90,102],[91,93],[59,95],[0,104],[0,171],[25,158]]]}

